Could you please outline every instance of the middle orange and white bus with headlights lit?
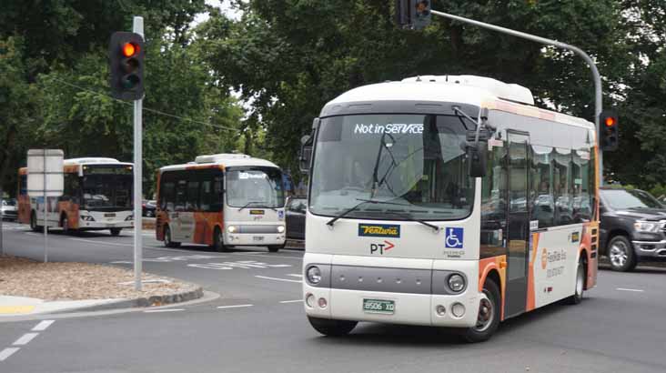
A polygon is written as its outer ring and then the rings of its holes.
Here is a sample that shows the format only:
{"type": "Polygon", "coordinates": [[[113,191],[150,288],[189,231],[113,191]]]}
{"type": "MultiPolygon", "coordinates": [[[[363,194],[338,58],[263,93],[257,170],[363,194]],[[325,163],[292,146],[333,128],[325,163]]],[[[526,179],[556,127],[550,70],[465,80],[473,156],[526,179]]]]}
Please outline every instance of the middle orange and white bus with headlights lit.
{"type": "Polygon", "coordinates": [[[275,164],[243,154],[197,156],[157,176],[156,237],[227,247],[285,246],[285,188],[275,164]]]}

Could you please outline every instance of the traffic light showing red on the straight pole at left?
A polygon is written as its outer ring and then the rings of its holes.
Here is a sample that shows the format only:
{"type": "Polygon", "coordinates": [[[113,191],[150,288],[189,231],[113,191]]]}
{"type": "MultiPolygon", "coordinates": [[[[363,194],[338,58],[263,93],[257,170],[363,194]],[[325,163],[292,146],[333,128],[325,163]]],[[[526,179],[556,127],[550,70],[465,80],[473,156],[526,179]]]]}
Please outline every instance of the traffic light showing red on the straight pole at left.
{"type": "Polygon", "coordinates": [[[111,35],[108,45],[111,94],[121,100],[144,96],[144,38],[127,32],[111,35]]]}

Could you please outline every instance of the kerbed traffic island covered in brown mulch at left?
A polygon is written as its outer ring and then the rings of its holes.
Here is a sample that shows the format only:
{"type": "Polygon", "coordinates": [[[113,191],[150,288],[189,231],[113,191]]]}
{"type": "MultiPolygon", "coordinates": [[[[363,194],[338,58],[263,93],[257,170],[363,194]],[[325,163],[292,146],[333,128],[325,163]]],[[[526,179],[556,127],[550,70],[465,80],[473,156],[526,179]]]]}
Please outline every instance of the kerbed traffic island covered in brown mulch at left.
{"type": "Polygon", "coordinates": [[[0,257],[0,316],[158,307],[203,296],[198,285],[144,273],[143,290],[134,273],[89,263],[40,263],[0,257]]]}

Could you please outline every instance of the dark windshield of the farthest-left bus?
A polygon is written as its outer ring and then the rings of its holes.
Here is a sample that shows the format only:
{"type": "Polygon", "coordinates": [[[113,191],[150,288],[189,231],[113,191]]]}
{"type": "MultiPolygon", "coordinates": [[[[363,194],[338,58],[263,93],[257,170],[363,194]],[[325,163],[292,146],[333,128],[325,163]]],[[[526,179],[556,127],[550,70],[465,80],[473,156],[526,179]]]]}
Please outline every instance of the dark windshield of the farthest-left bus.
{"type": "Polygon", "coordinates": [[[130,209],[132,186],[131,167],[84,166],[84,209],[130,209]]]}

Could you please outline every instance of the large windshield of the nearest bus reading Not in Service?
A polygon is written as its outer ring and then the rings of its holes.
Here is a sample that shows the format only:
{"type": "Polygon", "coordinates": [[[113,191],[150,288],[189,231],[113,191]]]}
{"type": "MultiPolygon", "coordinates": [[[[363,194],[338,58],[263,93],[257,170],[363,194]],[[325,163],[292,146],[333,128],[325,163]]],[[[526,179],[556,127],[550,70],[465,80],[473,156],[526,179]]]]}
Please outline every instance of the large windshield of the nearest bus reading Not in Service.
{"type": "Polygon", "coordinates": [[[473,126],[456,116],[434,115],[323,119],[310,211],[335,217],[358,205],[345,217],[451,220],[469,216],[474,189],[463,150],[465,125],[473,126]]]}

